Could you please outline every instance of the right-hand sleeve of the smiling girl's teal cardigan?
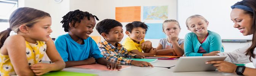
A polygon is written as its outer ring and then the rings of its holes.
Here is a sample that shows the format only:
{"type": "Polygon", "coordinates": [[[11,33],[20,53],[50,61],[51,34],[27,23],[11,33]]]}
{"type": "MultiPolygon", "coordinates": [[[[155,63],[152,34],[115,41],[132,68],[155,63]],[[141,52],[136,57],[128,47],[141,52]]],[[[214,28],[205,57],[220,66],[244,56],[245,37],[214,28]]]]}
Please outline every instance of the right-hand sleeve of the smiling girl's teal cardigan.
{"type": "Polygon", "coordinates": [[[221,44],[221,36],[219,35],[215,35],[211,38],[211,41],[210,41],[210,49],[209,51],[212,52],[212,51],[222,51],[224,52],[222,49],[222,44],[221,44]]]}

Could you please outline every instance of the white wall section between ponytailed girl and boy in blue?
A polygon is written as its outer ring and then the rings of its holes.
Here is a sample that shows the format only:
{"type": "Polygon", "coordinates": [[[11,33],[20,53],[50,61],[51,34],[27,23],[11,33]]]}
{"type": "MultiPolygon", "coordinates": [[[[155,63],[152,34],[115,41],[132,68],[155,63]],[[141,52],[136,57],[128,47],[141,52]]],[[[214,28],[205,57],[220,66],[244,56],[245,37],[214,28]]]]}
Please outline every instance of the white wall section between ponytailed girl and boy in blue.
{"type": "Polygon", "coordinates": [[[24,6],[45,11],[51,15],[52,38],[65,34],[62,24],[62,16],[69,12],[69,0],[63,0],[61,3],[55,3],[54,0],[24,0],[24,6]]]}

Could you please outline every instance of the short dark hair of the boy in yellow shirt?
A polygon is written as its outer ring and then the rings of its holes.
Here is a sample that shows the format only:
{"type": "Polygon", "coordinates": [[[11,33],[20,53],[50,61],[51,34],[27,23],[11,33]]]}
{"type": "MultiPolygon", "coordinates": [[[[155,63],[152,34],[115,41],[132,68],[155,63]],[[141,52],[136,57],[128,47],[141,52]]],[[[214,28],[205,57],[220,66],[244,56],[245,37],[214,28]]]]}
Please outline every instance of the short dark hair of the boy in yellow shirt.
{"type": "Polygon", "coordinates": [[[149,26],[144,24],[144,22],[133,21],[133,22],[125,25],[125,27],[126,27],[126,31],[131,33],[131,30],[133,30],[133,28],[137,28],[137,27],[144,28],[146,30],[146,32],[147,32],[149,26]]]}

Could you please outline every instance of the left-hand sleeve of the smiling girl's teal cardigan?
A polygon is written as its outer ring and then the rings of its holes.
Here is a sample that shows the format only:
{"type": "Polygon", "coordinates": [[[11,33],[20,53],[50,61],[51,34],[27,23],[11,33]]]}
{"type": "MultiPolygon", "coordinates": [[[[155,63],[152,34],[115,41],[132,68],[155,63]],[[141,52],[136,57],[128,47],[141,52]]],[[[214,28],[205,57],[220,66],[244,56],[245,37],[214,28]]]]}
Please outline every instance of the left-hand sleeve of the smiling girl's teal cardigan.
{"type": "Polygon", "coordinates": [[[203,53],[194,52],[193,41],[190,33],[184,39],[184,51],[186,56],[203,56],[203,53]]]}

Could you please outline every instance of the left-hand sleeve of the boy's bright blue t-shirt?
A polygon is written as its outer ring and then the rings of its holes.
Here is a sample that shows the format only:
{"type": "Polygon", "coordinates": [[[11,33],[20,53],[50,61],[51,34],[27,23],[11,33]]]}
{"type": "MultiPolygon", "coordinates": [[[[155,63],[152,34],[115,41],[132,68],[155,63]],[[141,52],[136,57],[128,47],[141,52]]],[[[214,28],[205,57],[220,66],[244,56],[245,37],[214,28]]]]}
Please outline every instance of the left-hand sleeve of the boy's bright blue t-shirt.
{"type": "Polygon", "coordinates": [[[63,36],[59,36],[54,41],[55,46],[59,54],[61,55],[64,62],[68,61],[68,53],[67,53],[67,40],[63,36]]]}

